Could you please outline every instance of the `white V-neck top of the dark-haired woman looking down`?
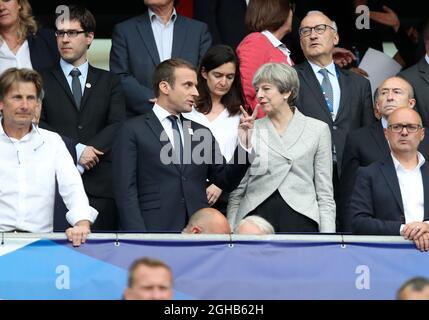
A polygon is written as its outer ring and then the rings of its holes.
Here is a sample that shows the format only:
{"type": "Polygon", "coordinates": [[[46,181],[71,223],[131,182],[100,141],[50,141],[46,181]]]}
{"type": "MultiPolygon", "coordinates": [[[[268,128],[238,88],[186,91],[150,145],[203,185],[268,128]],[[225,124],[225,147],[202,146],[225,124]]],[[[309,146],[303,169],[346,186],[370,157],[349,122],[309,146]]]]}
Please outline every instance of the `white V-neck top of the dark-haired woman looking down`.
{"type": "Polygon", "coordinates": [[[240,124],[239,114],[230,117],[228,109],[225,108],[216,119],[210,121],[204,114],[192,108],[191,112],[182,113],[182,115],[186,119],[209,128],[218,142],[220,151],[226,161],[231,160],[235,148],[237,148],[238,125],[240,124]]]}

